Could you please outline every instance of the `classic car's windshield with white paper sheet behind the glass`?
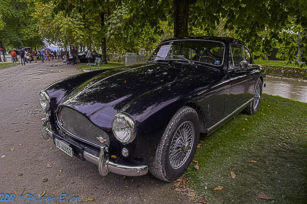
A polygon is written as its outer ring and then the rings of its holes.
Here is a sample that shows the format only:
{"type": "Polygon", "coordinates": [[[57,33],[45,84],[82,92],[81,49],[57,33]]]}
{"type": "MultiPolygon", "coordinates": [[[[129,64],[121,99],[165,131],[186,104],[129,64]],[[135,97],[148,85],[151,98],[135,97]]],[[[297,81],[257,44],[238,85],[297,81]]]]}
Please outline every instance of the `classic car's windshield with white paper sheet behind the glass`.
{"type": "Polygon", "coordinates": [[[216,41],[169,41],[161,43],[148,61],[187,60],[219,66],[223,63],[224,44],[216,41]],[[179,56],[179,57],[176,57],[179,56]]]}

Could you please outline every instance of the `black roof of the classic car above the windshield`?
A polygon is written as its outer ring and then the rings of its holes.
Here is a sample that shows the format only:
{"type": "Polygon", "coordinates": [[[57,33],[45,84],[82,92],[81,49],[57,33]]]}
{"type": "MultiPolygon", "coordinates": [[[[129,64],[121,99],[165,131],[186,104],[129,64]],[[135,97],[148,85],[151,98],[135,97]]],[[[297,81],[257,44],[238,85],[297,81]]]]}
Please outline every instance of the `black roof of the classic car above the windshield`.
{"type": "Polygon", "coordinates": [[[220,41],[225,44],[239,44],[246,46],[242,41],[232,38],[232,37],[216,37],[216,36],[202,36],[202,37],[176,37],[164,40],[162,42],[174,41],[174,40],[212,40],[212,41],[220,41]]]}

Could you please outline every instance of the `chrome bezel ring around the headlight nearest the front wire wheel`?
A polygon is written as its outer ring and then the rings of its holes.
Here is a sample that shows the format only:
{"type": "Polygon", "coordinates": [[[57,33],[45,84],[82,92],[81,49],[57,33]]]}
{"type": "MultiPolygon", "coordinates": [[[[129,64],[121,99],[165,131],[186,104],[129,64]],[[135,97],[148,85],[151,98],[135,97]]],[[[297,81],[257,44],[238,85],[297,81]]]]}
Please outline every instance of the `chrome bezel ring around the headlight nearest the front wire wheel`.
{"type": "Polygon", "coordinates": [[[127,113],[125,112],[119,112],[117,113],[113,120],[112,120],[112,131],[115,135],[115,137],[122,143],[131,143],[135,137],[136,137],[136,124],[134,122],[134,120],[131,118],[131,116],[129,116],[127,113]],[[121,139],[118,135],[116,135],[116,124],[115,124],[115,120],[116,119],[120,119],[120,120],[123,120],[126,125],[127,125],[127,128],[128,128],[128,131],[129,131],[129,136],[126,138],[126,139],[121,139]]]}

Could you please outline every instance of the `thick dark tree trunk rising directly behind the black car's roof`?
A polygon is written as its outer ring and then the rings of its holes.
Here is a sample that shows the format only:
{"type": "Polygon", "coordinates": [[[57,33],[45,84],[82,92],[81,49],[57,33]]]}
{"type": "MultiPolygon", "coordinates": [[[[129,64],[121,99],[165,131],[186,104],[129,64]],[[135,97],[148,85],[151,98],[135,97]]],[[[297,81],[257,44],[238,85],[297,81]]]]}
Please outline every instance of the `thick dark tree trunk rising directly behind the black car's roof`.
{"type": "Polygon", "coordinates": [[[188,36],[189,0],[174,0],[174,37],[188,36]]]}

